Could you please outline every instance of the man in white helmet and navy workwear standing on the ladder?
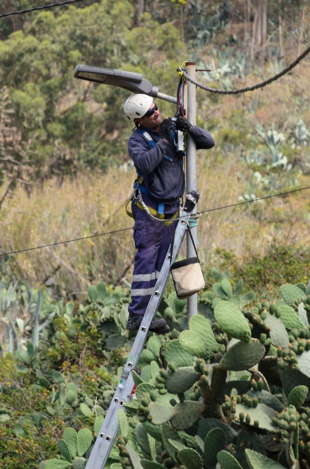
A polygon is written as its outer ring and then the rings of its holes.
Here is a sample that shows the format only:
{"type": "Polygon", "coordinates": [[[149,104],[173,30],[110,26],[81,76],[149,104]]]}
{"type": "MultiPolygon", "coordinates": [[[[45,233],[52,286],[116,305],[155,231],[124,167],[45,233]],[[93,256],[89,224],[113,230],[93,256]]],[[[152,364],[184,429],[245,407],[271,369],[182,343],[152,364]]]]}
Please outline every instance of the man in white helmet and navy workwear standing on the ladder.
{"type": "MultiPolygon", "coordinates": [[[[147,210],[156,218],[176,218],[185,190],[185,174],[183,153],[177,152],[174,133],[180,130],[190,134],[197,149],[212,148],[214,139],[207,131],[191,125],[183,115],[176,115],[175,122],[161,120],[157,104],[145,94],[130,96],[124,104],[124,113],[135,124],[128,140],[128,152],[138,174],[131,203],[137,252],[127,329],[138,330],[171,244],[176,222],[154,222],[137,196],[140,194],[147,210]]],[[[154,318],[149,330],[156,334],[170,332],[164,318],[154,318]]]]}

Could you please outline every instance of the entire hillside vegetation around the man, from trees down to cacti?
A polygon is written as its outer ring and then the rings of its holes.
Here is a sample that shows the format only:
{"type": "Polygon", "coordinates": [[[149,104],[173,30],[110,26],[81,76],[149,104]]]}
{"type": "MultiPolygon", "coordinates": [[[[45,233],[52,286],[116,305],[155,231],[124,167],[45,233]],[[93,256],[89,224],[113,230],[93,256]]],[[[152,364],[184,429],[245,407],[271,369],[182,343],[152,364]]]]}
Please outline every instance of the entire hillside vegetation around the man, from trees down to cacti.
{"type": "MultiPolygon", "coordinates": [[[[0,14],[31,7],[3,0],[0,14]]],[[[302,0],[84,0],[0,22],[4,469],[85,468],[134,339],[128,92],[74,79],[76,65],[174,96],[195,61],[198,82],[237,89],[305,50],[309,19],[302,0]]],[[[216,141],[197,152],[206,288],[187,330],[168,283],[171,334],[149,335],[107,469],[310,468],[308,88],[309,56],[253,92],[196,88],[216,141]]]]}

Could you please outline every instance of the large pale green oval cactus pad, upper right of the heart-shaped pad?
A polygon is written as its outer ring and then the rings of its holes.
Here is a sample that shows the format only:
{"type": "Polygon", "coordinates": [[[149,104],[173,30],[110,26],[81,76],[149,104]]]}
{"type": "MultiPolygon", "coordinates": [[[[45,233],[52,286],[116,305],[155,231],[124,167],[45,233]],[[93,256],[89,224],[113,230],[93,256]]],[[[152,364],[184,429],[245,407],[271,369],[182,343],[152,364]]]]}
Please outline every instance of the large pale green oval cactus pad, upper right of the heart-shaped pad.
{"type": "Polygon", "coordinates": [[[227,335],[249,342],[251,330],[248,320],[237,306],[230,301],[220,301],[214,309],[214,316],[227,335]]]}

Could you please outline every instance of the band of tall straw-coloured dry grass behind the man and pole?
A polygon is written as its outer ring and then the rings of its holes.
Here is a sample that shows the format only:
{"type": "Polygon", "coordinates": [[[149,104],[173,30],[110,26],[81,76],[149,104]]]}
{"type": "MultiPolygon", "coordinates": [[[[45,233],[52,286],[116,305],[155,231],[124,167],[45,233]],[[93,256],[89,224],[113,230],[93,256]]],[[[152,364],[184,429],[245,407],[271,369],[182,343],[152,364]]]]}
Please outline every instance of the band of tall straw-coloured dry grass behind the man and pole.
{"type": "MultiPolygon", "coordinates": [[[[240,161],[232,156],[216,165],[212,152],[208,159],[197,159],[197,187],[201,191],[198,210],[235,203],[244,189],[238,177],[240,161]]],[[[81,175],[61,187],[50,181],[42,189],[35,188],[30,197],[18,189],[1,210],[4,252],[129,229],[14,254],[15,272],[32,284],[53,278],[63,293],[78,294],[91,281],[100,279],[117,283],[134,255],[133,222],[124,211],[133,179],[133,172],[112,168],[107,175],[81,175]]],[[[310,177],[304,177],[302,183],[310,185],[310,177]]],[[[199,220],[201,260],[207,262],[215,248],[233,250],[240,257],[249,251],[262,253],[275,237],[304,245],[310,241],[309,224],[307,191],[285,199],[211,211],[199,220]]],[[[130,282],[131,272],[129,267],[123,285],[130,282]]]]}

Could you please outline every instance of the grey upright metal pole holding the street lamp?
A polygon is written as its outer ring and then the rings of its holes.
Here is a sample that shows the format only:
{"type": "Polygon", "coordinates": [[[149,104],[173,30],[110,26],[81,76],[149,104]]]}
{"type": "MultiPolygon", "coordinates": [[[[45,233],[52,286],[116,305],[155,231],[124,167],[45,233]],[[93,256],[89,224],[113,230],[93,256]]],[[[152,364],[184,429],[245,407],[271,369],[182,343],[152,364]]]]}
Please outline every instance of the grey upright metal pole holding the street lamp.
{"type": "MultiPolygon", "coordinates": [[[[187,75],[196,80],[196,62],[186,62],[186,73],[187,75]]],[[[196,86],[190,82],[186,82],[187,89],[187,104],[186,104],[186,117],[192,125],[196,125],[196,86]]],[[[187,138],[186,148],[186,193],[190,190],[197,190],[197,177],[196,177],[196,143],[195,140],[189,135],[187,138]]],[[[193,214],[197,213],[197,209],[193,210],[193,214]]],[[[197,227],[193,226],[190,228],[193,235],[194,243],[196,245],[197,240],[197,227]]],[[[188,257],[195,257],[196,252],[194,246],[190,240],[190,237],[186,235],[186,252],[188,257]]],[[[187,298],[187,325],[189,319],[197,314],[197,293],[187,298]]]]}

